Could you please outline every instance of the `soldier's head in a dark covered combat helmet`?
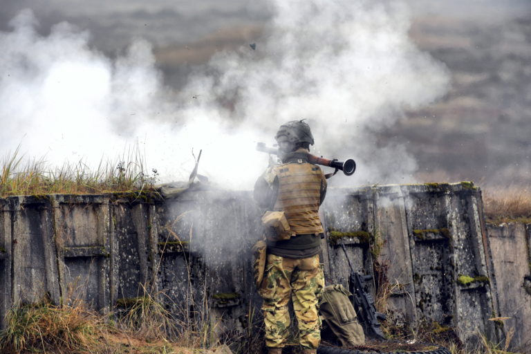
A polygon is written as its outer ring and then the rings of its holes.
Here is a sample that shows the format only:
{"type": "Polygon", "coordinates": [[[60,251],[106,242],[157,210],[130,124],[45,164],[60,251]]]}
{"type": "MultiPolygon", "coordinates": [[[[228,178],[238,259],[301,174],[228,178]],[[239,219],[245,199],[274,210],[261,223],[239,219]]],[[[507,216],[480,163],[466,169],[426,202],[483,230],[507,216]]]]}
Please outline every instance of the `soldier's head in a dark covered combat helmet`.
{"type": "Polygon", "coordinates": [[[282,124],[274,138],[281,153],[290,153],[301,147],[309,150],[310,145],[313,145],[312,131],[304,120],[292,120],[282,124]]]}

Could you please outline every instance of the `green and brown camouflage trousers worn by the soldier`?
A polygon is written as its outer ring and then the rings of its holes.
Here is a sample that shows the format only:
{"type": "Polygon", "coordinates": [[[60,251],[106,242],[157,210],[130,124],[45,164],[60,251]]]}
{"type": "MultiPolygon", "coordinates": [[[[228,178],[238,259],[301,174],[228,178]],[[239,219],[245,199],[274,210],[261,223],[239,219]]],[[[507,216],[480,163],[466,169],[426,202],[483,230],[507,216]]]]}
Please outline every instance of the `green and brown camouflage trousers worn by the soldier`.
{"type": "Polygon", "coordinates": [[[292,259],[268,254],[265,274],[259,288],[263,297],[265,345],[281,348],[290,334],[291,299],[299,327],[299,344],[317,348],[321,341],[321,319],[317,310],[318,298],[324,288],[324,274],[319,255],[292,259]]]}

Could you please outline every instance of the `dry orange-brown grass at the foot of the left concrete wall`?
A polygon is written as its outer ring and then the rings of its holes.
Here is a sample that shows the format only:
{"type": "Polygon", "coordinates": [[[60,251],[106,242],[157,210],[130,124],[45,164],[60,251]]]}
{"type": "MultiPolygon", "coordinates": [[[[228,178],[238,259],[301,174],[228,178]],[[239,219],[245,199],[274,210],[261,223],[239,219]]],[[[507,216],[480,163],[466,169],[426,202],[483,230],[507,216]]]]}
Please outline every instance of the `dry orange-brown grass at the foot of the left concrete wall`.
{"type": "Polygon", "coordinates": [[[62,306],[43,301],[13,308],[7,319],[0,332],[0,353],[6,354],[192,354],[220,345],[205,345],[205,333],[192,326],[178,331],[178,320],[151,295],[136,298],[117,315],[100,315],[82,300],[62,306]],[[115,316],[118,322],[111,320],[115,316]]]}

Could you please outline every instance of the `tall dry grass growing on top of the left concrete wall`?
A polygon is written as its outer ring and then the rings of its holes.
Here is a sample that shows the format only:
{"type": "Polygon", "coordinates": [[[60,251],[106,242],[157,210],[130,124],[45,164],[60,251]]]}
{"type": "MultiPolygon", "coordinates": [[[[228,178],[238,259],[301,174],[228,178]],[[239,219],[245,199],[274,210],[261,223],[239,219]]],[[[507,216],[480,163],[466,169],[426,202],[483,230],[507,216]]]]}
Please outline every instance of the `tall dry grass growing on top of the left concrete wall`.
{"type": "Polygon", "coordinates": [[[19,148],[0,160],[0,197],[38,194],[102,194],[147,190],[158,178],[145,170],[145,158],[136,148],[115,161],[100,160],[95,168],[82,160],[52,167],[44,158],[26,160],[19,148]]]}

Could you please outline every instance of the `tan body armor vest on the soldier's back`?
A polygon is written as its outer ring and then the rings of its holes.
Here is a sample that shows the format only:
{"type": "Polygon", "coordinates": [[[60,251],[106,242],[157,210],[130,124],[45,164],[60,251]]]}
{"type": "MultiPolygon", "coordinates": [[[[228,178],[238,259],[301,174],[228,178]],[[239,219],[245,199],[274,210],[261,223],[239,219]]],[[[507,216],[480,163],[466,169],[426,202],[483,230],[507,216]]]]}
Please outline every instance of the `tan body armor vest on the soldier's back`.
{"type": "Polygon", "coordinates": [[[279,178],[274,209],[286,214],[292,234],[322,233],[319,201],[324,177],[321,169],[308,162],[286,163],[274,169],[279,178]]]}

